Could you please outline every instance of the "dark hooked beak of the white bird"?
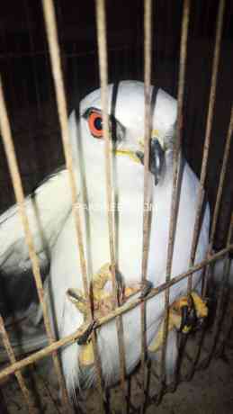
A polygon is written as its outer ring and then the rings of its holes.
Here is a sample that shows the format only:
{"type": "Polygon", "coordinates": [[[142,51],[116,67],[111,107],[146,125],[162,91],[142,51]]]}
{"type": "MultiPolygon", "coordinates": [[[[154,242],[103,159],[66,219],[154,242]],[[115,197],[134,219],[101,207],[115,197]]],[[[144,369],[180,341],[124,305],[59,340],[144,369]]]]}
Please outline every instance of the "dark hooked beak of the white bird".
{"type": "MultiPolygon", "coordinates": [[[[136,152],[142,164],[144,164],[144,154],[141,151],[136,152]]],[[[161,147],[158,139],[150,139],[149,147],[149,171],[155,177],[155,185],[158,184],[165,162],[165,151],[161,147]]]]}

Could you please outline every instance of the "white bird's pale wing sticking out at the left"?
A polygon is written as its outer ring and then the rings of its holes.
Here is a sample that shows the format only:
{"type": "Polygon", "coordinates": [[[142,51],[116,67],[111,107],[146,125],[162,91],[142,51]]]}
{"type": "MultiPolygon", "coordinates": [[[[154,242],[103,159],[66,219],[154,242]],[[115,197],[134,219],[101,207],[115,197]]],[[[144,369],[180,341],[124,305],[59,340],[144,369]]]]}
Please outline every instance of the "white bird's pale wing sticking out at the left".
{"type": "MultiPolygon", "coordinates": [[[[67,170],[50,175],[25,199],[34,247],[40,266],[49,263],[50,249],[58,238],[71,209],[67,170]]],[[[31,269],[22,222],[15,204],[0,216],[0,272],[22,275],[31,269]]]]}

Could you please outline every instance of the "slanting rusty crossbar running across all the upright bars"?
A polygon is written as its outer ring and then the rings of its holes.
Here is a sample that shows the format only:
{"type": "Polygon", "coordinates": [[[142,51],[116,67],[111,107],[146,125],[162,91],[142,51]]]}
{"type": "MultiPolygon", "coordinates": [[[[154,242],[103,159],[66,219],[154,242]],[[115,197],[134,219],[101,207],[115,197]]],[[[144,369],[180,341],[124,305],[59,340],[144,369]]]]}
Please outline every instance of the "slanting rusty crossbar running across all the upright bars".
{"type": "MultiPolygon", "coordinates": [[[[158,293],[164,292],[167,287],[174,286],[174,284],[178,284],[180,281],[185,279],[188,275],[191,275],[194,272],[197,272],[198,270],[201,270],[202,267],[207,266],[216,260],[220,259],[221,257],[225,256],[229,251],[233,251],[233,243],[229,245],[229,247],[223,248],[220,250],[220,252],[212,255],[210,258],[202,260],[201,263],[198,265],[193,266],[191,269],[189,269],[187,272],[184,272],[181,275],[177,275],[174,278],[172,278],[168,284],[160,284],[160,286],[151,289],[151,291],[148,293],[148,295],[145,298],[142,299],[136,299],[132,302],[128,302],[125,305],[115,309],[114,311],[110,312],[107,316],[104,316],[103,318],[100,318],[97,320],[95,329],[99,329],[101,326],[103,326],[105,323],[110,322],[111,320],[114,320],[117,316],[120,316],[134,308],[136,306],[139,306],[141,301],[148,301],[149,299],[153,298],[154,296],[157,296],[158,293]]],[[[33,362],[39,361],[41,358],[45,356],[49,356],[54,351],[56,351],[59,347],[65,347],[68,344],[71,344],[72,342],[75,342],[77,338],[80,338],[89,324],[82,326],[80,329],[77,329],[76,332],[73,334],[67,336],[66,338],[59,339],[56,342],[53,342],[48,347],[44,347],[38,352],[35,352],[31,356],[28,356],[26,358],[23,358],[21,361],[17,361],[14,365],[10,365],[6,368],[4,368],[0,372],[0,380],[2,380],[5,376],[13,374],[15,371],[18,371],[22,369],[24,366],[30,365],[33,362]]]]}

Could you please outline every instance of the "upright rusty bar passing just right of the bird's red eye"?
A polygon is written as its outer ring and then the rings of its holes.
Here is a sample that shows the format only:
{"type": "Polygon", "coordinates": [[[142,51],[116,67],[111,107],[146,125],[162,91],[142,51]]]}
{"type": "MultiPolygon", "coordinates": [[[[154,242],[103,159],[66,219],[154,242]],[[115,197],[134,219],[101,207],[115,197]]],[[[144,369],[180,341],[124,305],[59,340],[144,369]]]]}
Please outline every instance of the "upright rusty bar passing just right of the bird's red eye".
{"type": "MultiPolygon", "coordinates": [[[[108,61],[107,61],[107,34],[106,34],[106,17],[105,17],[105,1],[95,0],[96,7],[96,24],[97,24],[97,42],[99,55],[99,71],[101,83],[101,102],[103,110],[103,138],[105,141],[104,157],[105,157],[105,176],[106,176],[106,196],[108,211],[108,229],[109,229],[109,248],[112,266],[112,286],[115,297],[115,307],[119,305],[117,283],[116,283],[116,263],[114,251],[114,231],[113,231],[113,211],[112,211],[112,155],[111,155],[111,139],[109,130],[108,117],[108,61]]],[[[116,318],[116,327],[118,335],[119,358],[120,358],[120,375],[121,375],[121,392],[122,392],[122,409],[127,412],[126,386],[125,386],[125,349],[123,341],[123,324],[121,317],[116,318]]]]}

